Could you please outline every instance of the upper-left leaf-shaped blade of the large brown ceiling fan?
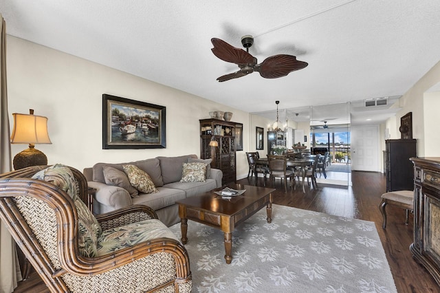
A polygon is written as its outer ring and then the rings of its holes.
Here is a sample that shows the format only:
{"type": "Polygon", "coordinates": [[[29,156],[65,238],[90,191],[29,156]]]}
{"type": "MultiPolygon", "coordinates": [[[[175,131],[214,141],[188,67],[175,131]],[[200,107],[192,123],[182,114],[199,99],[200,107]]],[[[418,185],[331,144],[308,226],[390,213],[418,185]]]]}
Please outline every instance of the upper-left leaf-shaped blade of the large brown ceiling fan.
{"type": "Polygon", "coordinates": [[[212,45],[214,45],[214,47],[211,49],[212,53],[223,61],[238,65],[252,64],[254,62],[256,63],[256,61],[254,61],[254,57],[243,49],[233,47],[225,41],[217,38],[212,38],[211,42],[212,45]]]}

